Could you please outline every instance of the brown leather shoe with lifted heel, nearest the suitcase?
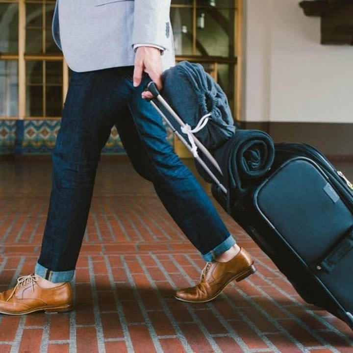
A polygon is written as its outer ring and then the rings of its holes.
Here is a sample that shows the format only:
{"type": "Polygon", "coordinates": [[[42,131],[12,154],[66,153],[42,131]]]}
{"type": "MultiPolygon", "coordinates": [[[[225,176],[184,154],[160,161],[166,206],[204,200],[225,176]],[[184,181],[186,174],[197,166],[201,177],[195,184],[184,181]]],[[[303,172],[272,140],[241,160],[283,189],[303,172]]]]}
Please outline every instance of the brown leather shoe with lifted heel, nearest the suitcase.
{"type": "Polygon", "coordinates": [[[227,284],[235,279],[237,282],[256,271],[250,254],[240,252],[227,262],[208,262],[201,274],[200,283],[195,287],[179,289],[175,298],[182,302],[205,303],[221,294],[227,284]]]}

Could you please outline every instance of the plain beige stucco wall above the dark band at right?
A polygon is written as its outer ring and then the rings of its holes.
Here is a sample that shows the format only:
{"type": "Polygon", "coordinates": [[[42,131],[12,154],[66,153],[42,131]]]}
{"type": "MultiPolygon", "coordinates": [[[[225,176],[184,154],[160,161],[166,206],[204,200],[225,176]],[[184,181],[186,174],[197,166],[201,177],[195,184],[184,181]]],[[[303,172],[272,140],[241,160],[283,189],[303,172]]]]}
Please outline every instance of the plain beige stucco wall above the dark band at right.
{"type": "Polygon", "coordinates": [[[299,0],[244,0],[243,120],[353,122],[353,46],[320,44],[299,0]]]}

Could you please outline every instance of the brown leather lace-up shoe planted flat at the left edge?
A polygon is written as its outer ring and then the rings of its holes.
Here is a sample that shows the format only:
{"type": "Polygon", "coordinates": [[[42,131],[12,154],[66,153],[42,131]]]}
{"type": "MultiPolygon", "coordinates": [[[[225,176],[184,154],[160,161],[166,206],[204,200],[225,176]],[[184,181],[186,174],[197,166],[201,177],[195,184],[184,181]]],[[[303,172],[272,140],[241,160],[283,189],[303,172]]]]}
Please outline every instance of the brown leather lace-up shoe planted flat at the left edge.
{"type": "Polygon", "coordinates": [[[58,313],[73,308],[72,291],[69,282],[54,288],[42,288],[35,275],[17,279],[15,287],[0,293],[0,313],[24,315],[34,311],[58,313]]]}

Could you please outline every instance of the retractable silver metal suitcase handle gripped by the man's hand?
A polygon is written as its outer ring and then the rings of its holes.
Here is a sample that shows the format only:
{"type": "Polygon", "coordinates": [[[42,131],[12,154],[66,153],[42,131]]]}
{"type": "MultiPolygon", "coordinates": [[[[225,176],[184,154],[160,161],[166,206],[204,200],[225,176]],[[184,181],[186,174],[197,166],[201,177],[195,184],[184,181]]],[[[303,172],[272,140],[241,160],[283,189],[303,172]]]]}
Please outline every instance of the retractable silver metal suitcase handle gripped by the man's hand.
{"type": "MultiPolygon", "coordinates": [[[[151,81],[145,88],[145,91],[149,91],[153,98],[150,101],[151,105],[154,107],[154,109],[159,113],[159,115],[163,118],[163,120],[168,124],[168,126],[173,130],[173,132],[176,134],[176,136],[180,139],[180,141],[186,146],[186,148],[192,152],[192,148],[190,145],[187,143],[187,141],[184,139],[183,136],[176,130],[176,128],[173,126],[173,124],[169,121],[169,119],[165,116],[165,114],[159,109],[158,105],[154,102],[154,100],[157,100],[158,102],[161,103],[161,105],[167,109],[167,111],[173,116],[173,118],[176,120],[176,122],[184,127],[186,124],[182,121],[182,119],[176,114],[176,112],[173,110],[173,108],[168,104],[167,101],[164,100],[164,98],[160,95],[158,88],[156,84],[151,81]]],[[[192,139],[195,142],[195,145],[202,151],[202,153],[205,155],[205,157],[210,161],[210,163],[217,169],[217,171],[223,175],[222,170],[217,163],[217,161],[214,159],[212,154],[202,145],[202,143],[194,136],[192,132],[188,133],[189,136],[192,137],[192,139]]],[[[200,158],[199,155],[194,155],[195,159],[201,164],[202,168],[205,170],[205,172],[212,178],[212,180],[220,187],[220,189],[227,194],[227,189],[222,185],[222,183],[218,180],[218,178],[212,173],[212,171],[208,168],[208,166],[204,163],[204,161],[200,158]]]]}

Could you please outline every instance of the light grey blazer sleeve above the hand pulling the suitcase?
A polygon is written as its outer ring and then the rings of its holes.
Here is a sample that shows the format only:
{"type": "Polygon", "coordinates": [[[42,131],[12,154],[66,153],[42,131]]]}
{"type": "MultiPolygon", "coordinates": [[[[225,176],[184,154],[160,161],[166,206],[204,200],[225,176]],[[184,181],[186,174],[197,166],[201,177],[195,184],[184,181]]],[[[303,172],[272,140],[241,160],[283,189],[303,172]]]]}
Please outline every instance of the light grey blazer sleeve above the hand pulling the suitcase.
{"type": "Polygon", "coordinates": [[[154,44],[170,47],[172,28],[170,24],[171,0],[135,0],[132,43],[154,44]]]}

